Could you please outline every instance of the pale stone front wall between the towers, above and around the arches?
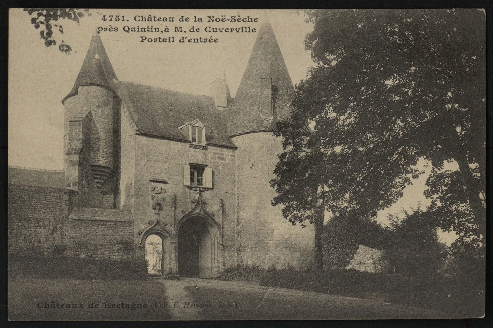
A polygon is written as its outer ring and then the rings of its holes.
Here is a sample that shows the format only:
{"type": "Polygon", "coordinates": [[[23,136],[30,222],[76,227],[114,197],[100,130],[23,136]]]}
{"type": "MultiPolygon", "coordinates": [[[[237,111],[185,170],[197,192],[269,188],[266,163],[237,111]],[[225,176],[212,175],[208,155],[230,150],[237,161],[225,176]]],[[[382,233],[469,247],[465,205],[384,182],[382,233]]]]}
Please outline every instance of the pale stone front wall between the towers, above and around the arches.
{"type": "MultiPolygon", "coordinates": [[[[210,145],[207,150],[193,149],[187,142],[142,135],[136,136],[135,147],[136,246],[141,244],[143,232],[156,222],[158,215],[152,206],[160,199],[162,200],[162,210],[159,211],[160,222],[166,225],[168,237],[175,235],[176,223],[194,208],[198,197],[197,188],[190,188],[184,184],[183,165],[204,164],[212,168],[213,188],[201,189],[203,204],[219,226],[222,200],[224,262],[225,266],[236,264],[235,149],[210,145]],[[158,180],[161,182],[156,182],[158,180]],[[162,187],[163,193],[152,194],[150,188],[154,186],[162,187]],[[151,196],[154,199],[151,199],[151,196]]],[[[220,231],[218,233],[220,234],[220,231]]],[[[172,256],[171,250],[164,251],[172,256]]],[[[168,260],[165,258],[166,261],[168,260]]]]}

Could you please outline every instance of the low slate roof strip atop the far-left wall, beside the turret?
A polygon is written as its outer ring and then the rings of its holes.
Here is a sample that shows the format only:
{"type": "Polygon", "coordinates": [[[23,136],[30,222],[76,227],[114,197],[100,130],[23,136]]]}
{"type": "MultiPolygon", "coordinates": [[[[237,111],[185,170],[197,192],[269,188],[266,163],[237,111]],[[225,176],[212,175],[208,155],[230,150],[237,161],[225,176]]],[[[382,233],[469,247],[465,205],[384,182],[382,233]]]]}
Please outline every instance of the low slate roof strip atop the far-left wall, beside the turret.
{"type": "Polygon", "coordinates": [[[9,166],[7,181],[9,184],[63,189],[65,188],[65,172],[9,166]]]}

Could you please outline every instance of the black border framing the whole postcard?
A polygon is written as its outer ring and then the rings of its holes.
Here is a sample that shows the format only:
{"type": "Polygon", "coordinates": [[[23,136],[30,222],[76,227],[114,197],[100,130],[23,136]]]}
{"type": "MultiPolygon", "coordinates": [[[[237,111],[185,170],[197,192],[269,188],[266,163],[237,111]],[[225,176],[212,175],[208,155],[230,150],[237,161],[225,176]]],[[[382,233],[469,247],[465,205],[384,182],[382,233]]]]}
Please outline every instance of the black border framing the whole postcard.
{"type": "MultiPolygon", "coordinates": [[[[486,151],[487,151],[487,194],[490,195],[491,191],[491,165],[493,154],[493,123],[491,120],[491,113],[493,113],[491,107],[492,98],[492,12],[493,1],[488,0],[394,0],[394,1],[382,1],[382,0],[333,0],[333,1],[198,1],[191,0],[186,2],[168,2],[168,1],[156,1],[150,0],[145,2],[135,2],[135,5],[130,2],[117,2],[117,1],[42,1],[44,7],[86,7],[86,8],[181,8],[181,9],[303,9],[303,8],[485,8],[486,9],[486,28],[487,28],[487,136],[486,136],[486,151]]],[[[3,39],[6,40],[8,36],[8,8],[9,7],[35,7],[40,4],[33,3],[33,1],[22,0],[8,0],[2,3],[1,7],[1,32],[3,39]]],[[[6,43],[6,42],[5,42],[6,43]]],[[[4,44],[5,44],[4,43],[4,44]]],[[[7,180],[7,131],[8,131],[8,98],[7,98],[7,74],[8,74],[8,48],[3,46],[0,53],[1,61],[1,74],[0,74],[0,219],[3,223],[3,236],[6,236],[7,232],[7,195],[6,195],[6,180],[7,180]]],[[[35,69],[35,68],[33,68],[35,69]]],[[[490,201],[487,201],[486,206],[487,218],[492,217],[492,211],[490,201]]],[[[492,243],[490,238],[492,236],[492,224],[490,220],[487,220],[487,297],[486,297],[486,314],[482,319],[433,319],[433,320],[331,320],[331,321],[204,321],[204,322],[9,322],[6,319],[6,250],[7,240],[6,238],[0,243],[1,251],[1,274],[3,276],[2,293],[0,294],[1,300],[1,321],[4,322],[3,327],[72,327],[72,326],[89,326],[89,327],[135,327],[135,326],[148,326],[148,327],[493,327],[492,321],[492,279],[490,273],[492,273],[492,243]],[[4,305],[5,304],[5,305],[4,305]]]]}

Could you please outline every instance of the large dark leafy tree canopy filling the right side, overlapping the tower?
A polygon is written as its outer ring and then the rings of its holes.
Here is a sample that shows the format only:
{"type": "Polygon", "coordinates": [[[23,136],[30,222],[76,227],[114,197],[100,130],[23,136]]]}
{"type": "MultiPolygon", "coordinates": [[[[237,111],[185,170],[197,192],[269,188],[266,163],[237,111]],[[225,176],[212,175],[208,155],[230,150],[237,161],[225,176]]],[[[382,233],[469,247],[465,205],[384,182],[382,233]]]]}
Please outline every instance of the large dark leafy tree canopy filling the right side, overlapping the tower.
{"type": "Polygon", "coordinates": [[[283,216],[316,222],[313,190],[334,215],[374,217],[431,162],[437,226],[485,235],[485,12],[311,10],[317,64],[275,132],[271,185],[283,216]],[[314,122],[313,129],[308,123],[314,122]],[[445,170],[456,161],[459,169],[445,170]],[[451,205],[453,204],[453,206],[451,205]],[[460,210],[459,210],[460,208],[460,210]]]}

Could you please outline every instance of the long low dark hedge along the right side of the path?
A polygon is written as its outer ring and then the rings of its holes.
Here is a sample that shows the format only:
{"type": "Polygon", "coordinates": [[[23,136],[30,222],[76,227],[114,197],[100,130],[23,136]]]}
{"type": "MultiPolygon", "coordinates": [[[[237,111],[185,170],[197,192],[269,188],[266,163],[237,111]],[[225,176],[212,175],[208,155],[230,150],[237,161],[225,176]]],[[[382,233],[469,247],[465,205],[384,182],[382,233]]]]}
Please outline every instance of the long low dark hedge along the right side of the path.
{"type": "MultiPolygon", "coordinates": [[[[447,292],[453,282],[438,274],[406,277],[398,274],[360,272],[354,269],[281,269],[264,272],[259,284],[365,298],[380,295],[393,303],[435,309],[458,316],[481,316],[484,294],[463,292],[462,298],[450,297],[447,292]],[[479,309],[479,311],[478,311],[479,309]]],[[[483,305],[484,309],[484,305],[483,305]]]]}

